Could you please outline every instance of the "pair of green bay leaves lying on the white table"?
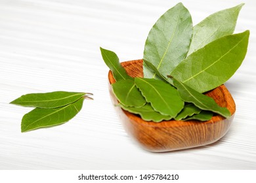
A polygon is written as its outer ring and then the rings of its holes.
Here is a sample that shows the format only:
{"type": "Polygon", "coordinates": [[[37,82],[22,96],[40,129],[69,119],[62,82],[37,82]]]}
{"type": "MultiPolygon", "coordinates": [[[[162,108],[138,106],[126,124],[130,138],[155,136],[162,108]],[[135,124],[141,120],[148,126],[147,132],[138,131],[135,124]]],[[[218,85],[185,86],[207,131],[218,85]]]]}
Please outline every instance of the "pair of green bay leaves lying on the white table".
{"type": "MultiPolygon", "coordinates": [[[[35,107],[22,118],[22,132],[64,124],[81,110],[86,94],[78,92],[30,93],[11,102],[14,105],[35,107]]],[[[90,97],[89,97],[90,98],[90,97]]]]}

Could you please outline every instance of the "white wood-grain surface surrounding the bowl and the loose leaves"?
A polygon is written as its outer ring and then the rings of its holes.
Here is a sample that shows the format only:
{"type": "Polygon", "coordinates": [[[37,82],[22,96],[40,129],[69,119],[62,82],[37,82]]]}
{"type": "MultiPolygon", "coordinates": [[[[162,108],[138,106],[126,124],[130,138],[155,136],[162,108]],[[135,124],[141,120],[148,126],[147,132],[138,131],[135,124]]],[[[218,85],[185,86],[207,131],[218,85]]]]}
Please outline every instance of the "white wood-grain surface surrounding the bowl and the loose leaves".
{"type": "Polygon", "coordinates": [[[142,150],[110,101],[99,47],[140,59],[152,25],[179,1],[0,0],[0,169],[256,169],[256,3],[182,1],[194,25],[240,3],[236,33],[249,29],[244,63],[226,87],[236,116],[220,141],[177,152],[142,150]],[[9,103],[26,93],[94,93],[70,122],[20,132],[32,108],[9,103]]]}

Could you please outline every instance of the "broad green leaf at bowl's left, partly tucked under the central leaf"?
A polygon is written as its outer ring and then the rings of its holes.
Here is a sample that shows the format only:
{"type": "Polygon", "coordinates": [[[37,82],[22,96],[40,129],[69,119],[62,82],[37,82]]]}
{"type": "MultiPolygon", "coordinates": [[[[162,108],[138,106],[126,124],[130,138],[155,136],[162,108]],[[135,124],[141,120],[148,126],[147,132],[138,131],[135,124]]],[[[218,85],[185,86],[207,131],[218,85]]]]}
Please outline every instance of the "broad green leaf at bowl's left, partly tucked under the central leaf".
{"type": "Polygon", "coordinates": [[[112,84],[112,90],[118,101],[127,107],[142,107],[146,104],[134,80],[120,80],[112,84]]]}

